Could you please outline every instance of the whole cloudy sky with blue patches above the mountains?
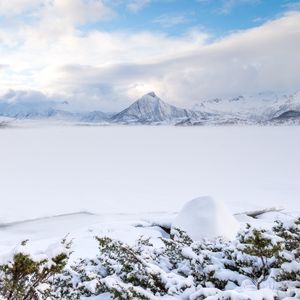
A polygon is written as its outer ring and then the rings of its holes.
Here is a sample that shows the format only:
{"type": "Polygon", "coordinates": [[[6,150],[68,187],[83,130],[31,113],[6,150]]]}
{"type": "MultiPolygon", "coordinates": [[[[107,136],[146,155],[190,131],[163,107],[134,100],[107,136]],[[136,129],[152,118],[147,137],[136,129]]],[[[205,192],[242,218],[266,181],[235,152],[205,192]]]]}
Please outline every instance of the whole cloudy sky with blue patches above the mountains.
{"type": "Polygon", "coordinates": [[[300,1],[0,0],[0,101],[118,111],[300,87],[300,1]]]}

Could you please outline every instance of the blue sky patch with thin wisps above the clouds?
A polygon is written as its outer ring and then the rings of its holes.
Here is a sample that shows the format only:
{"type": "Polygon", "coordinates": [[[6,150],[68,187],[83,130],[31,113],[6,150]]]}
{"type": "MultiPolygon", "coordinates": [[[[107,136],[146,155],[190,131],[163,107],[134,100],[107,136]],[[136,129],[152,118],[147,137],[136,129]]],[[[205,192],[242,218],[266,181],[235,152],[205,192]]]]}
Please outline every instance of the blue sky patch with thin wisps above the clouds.
{"type": "Polygon", "coordinates": [[[112,1],[106,2],[114,8],[116,15],[85,28],[155,30],[170,35],[199,28],[219,38],[276,18],[291,7],[300,9],[300,2],[288,0],[152,0],[140,1],[144,5],[137,5],[136,10],[128,8],[128,1],[115,5],[111,5],[112,1]]]}

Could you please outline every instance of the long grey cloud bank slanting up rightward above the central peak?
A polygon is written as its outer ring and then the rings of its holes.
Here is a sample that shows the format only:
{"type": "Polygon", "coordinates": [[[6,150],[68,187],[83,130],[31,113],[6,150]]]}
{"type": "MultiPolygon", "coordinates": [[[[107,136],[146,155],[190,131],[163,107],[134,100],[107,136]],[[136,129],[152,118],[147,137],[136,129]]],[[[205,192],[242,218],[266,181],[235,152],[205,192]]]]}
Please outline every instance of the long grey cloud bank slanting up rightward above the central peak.
{"type": "Polygon", "coordinates": [[[80,82],[80,93],[105,95],[114,99],[115,105],[122,104],[116,99],[125,104],[128,97],[136,98],[149,90],[175,104],[190,106],[210,97],[298,89],[299,16],[289,13],[161,61],[64,68],[60,82],[68,82],[68,88],[76,86],[77,90],[76,83],[80,82]]]}

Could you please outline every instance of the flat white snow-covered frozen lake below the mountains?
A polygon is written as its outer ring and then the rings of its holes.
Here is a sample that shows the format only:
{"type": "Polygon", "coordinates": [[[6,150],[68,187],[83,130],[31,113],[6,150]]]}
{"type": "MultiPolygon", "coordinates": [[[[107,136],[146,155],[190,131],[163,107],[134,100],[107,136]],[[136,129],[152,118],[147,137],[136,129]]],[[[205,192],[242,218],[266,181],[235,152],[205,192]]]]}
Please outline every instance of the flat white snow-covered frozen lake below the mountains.
{"type": "Polygon", "coordinates": [[[233,212],[300,211],[300,127],[0,130],[0,222],[61,213],[178,211],[211,195],[233,212]]]}

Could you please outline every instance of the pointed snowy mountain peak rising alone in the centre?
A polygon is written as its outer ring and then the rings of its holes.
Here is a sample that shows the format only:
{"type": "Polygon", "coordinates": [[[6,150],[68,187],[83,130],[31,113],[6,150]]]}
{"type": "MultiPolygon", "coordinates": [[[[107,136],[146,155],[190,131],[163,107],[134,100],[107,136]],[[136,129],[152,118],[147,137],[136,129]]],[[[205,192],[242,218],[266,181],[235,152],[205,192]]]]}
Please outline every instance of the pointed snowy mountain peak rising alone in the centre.
{"type": "Polygon", "coordinates": [[[167,104],[154,92],[144,95],[128,108],[112,117],[122,124],[176,124],[183,120],[201,119],[205,114],[167,104]]]}

